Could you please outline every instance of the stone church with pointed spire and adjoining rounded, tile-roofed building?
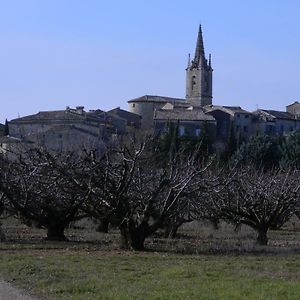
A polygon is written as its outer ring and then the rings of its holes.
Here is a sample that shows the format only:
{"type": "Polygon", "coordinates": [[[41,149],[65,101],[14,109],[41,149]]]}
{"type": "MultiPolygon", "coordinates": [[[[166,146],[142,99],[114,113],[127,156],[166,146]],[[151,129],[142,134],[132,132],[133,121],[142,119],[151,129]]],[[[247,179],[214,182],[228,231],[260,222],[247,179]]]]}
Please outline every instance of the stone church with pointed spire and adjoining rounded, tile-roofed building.
{"type": "Polygon", "coordinates": [[[200,25],[194,59],[189,55],[186,68],[186,98],[144,95],[129,100],[129,110],[142,116],[142,129],[164,130],[166,122],[179,121],[182,134],[198,135],[204,123],[216,126],[215,118],[204,110],[212,104],[212,74],[211,55],[207,60],[200,25]]]}

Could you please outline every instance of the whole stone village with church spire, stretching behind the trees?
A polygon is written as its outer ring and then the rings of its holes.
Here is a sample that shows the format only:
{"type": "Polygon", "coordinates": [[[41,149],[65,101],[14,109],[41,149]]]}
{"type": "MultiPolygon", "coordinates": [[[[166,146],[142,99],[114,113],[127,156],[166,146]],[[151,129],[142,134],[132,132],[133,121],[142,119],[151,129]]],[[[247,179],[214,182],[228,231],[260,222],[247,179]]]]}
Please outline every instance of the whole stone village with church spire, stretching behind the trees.
{"type": "Polygon", "coordinates": [[[109,111],[85,111],[84,106],[58,111],[41,111],[0,125],[0,150],[17,145],[39,145],[53,150],[101,149],[107,142],[133,132],[167,133],[171,124],[179,136],[200,137],[210,132],[216,149],[225,148],[229,137],[247,141],[260,132],[287,135],[300,129],[300,103],[286,106],[286,111],[260,109],[253,112],[237,106],[213,103],[213,68],[211,55],[204,50],[199,27],[193,59],[186,68],[186,98],[144,95],[128,100],[128,111],[120,107],[109,111]],[[7,127],[7,128],[5,128],[7,127]],[[7,134],[8,133],[8,134],[7,134]]]}

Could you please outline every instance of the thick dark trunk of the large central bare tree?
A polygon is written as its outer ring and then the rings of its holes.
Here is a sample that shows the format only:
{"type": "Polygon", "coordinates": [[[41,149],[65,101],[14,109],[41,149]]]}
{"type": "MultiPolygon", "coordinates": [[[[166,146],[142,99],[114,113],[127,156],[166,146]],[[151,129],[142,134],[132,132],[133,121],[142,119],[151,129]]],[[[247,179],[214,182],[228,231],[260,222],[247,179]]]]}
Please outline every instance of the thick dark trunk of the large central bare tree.
{"type": "Polygon", "coordinates": [[[121,232],[121,248],[124,250],[145,250],[145,239],[148,236],[145,224],[140,224],[137,227],[133,222],[128,222],[120,226],[121,232]]]}

